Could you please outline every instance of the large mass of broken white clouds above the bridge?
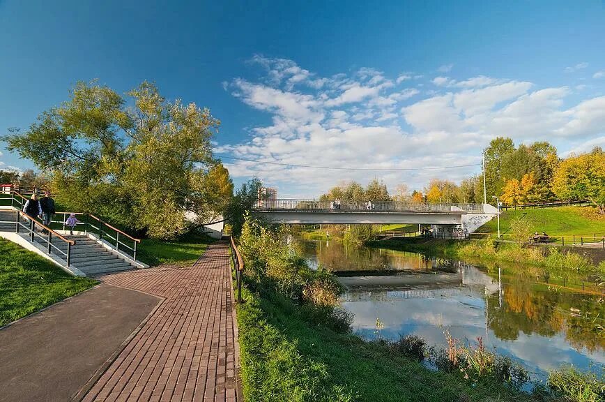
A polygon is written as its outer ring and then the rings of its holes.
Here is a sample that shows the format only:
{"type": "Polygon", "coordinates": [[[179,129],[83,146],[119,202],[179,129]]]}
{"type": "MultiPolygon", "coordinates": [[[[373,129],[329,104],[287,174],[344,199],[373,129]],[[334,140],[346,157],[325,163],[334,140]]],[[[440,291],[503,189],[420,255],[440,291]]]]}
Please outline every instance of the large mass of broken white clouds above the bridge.
{"type": "Polygon", "coordinates": [[[395,169],[480,163],[481,150],[497,135],[549,140],[562,154],[603,142],[605,97],[569,103],[568,87],[536,88],[479,75],[436,77],[430,81],[442,92],[421,92],[423,82],[406,87],[420,79],[412,74],[388,77],[360,68],[321,77],[286,59],[256,56],[252,64],[266,74],[254,81],[236,78],[226,87],[271,122],[251,128],[247,140],[222,144],[217,153],[254,161],[224,162],[233,177],[257,175],[284,197],[313,197],[341,181],[367,183],[375,176],[391,189],[401,182],[422,188],[433,177],[459,181],[480,168],[395,169]]]}

